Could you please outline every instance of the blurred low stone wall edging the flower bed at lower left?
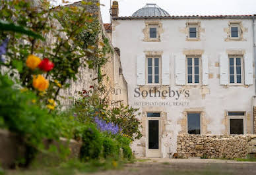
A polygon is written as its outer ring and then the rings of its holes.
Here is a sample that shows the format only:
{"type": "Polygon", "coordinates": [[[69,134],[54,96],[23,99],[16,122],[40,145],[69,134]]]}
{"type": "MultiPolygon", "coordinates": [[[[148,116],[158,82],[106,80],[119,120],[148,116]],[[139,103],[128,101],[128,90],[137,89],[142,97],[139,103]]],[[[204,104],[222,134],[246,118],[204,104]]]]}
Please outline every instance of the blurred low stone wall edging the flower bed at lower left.
{"type": "MultiPolygon", "coordinates": [[[[57,151],[69,149],[68,158],[73,159],[79,157],[82,142],[73,139],[65,139],[63,137],[61,137],[59,141],[49,141],[45,139],[44,146],[46,149],[48,149],[50,145],[54,145],[57,151]]],[[[26,144],[22,137],[7,130],[0,129],[0,166],[3,168],[15,168],[16,163],[24,157],[26,157],[26,144]]],[[[44,159],[57,160],[58,157],[56,157],[55,154],[39,152],[35,158],[38,162],[44,161],[44,159]]]]}

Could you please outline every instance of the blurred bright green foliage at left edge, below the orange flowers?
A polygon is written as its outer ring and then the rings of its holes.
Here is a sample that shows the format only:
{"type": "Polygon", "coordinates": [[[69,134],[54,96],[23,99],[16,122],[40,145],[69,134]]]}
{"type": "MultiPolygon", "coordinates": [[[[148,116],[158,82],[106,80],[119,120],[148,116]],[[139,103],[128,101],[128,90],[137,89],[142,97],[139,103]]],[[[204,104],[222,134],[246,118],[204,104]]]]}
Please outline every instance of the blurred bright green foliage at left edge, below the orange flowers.
{"type": "Polygon", "coordinates": [[[13,85],[8,76],[0,75],[0,127],[24,136],[32,146],[38,146],[44,138],[58,138],[53,116],[40,103],[33,103],[36,95],[13,85]]]}

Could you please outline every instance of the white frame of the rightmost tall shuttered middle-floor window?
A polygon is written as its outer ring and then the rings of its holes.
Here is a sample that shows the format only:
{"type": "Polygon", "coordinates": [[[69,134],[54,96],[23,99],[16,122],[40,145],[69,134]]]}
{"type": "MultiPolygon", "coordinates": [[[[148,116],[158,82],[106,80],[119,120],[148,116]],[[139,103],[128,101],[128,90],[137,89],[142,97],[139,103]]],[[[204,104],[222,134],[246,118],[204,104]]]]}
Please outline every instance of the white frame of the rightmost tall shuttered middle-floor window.
{"type": "Polygon", "coordinates": [[[228,55],[228,84],[230,85],[243,85],[244,84],[244,63],[243,63],[244,59],[243,59],[243,55],[228,55]],[[230,82],[230,58],[234,59],[234,83],[230,82]],[[236,59],[240,58],[240,62],[241,62],[241,83],[237,82],[237,73],[236,73],[236,59]]]}

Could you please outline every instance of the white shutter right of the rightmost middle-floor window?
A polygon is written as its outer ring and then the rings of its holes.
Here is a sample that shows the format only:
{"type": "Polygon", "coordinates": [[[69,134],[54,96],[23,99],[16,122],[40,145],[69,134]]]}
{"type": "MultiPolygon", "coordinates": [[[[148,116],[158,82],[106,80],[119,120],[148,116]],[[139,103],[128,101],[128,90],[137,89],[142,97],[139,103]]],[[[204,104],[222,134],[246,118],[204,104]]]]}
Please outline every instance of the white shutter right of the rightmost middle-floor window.
{"type": "Polygon", "coordinates": [[[252,54],[244,55],[244,77],[245,84],[253,84],[253,56],[252,54]]]}

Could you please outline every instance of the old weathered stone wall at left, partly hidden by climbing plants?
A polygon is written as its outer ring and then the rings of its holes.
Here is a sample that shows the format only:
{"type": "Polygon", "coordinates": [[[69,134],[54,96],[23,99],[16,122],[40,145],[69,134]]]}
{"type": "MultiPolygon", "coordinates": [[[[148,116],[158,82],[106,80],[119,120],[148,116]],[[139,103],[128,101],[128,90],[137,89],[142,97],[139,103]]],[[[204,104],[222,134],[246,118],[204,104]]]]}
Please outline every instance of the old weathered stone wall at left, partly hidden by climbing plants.
{"type": "MultiPolygon", "coordinates": [[[[81,2],[82,1],[72,3],[66,5],[66,7],[84,7],[81,2]]],[[[128,105],[127,82],[125,81],[122,73],[119,49],[112,46],[111,36],[109,35],[108,29],[105,28],[102,22],[100,7],[96,5],[96,3],[99,3],[99,0],[93,0],[92,2],[92,5],[86,5],[86,11],[96,16],[101,27],[101,32],[98,35],[98,48],[102,47],[101,42],[103,42],[104,37],[108,38],[108,43],[110,47],[112,47],[112,52],[106,54],[106,58],[108,58],[107,63],[101,68],[101,74],[103,76],[102,85],[105,87],[105,91],[101,92],[102,97],[106,97],[105,103],[108,103],[110,108],[119,107],[120,105],[128,105]]],[[[55,26],[61,28],[61,24],[57,21],[55,22],[55,26]]],[[[54,37],[49,36],[49,43],[53,43],[55,41],[54,39],[54,37]]],[[[80,97],[79,91],[82,91],[83,89],[89,90],[90,86],[98,86],[98,78],[97,68],[80,66],[79,73],[77,74],[77,80],[69,80],[69,88],[61,89],[60,91],[60,95],[62,96],[60,99],[61,105],[70,107],[73,104],[74,99],[80,97]],[[69,97],[73,97],[73,99],[70,99],[69,97]]]]}

